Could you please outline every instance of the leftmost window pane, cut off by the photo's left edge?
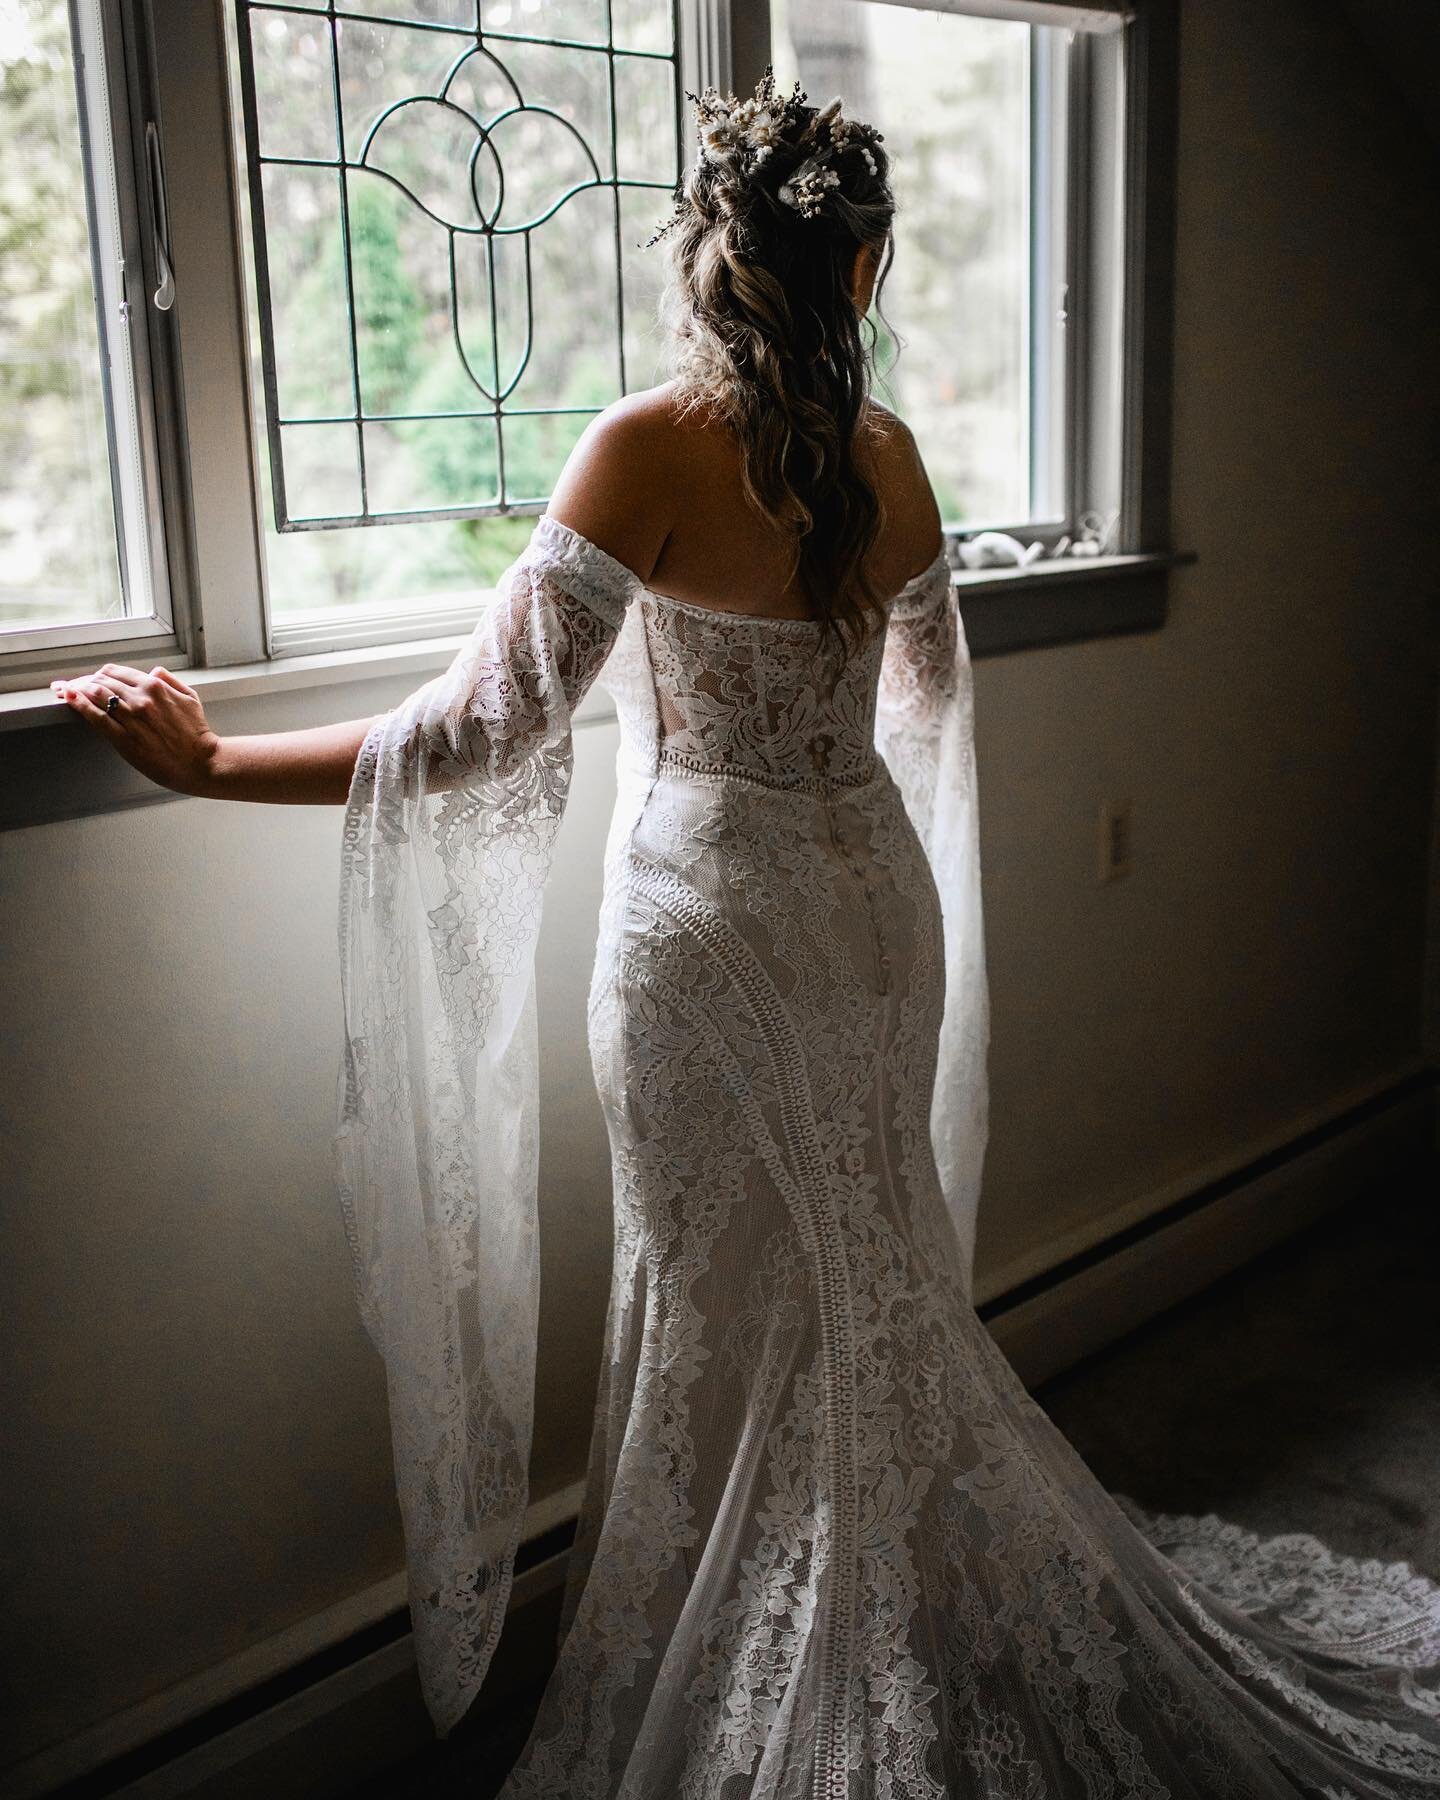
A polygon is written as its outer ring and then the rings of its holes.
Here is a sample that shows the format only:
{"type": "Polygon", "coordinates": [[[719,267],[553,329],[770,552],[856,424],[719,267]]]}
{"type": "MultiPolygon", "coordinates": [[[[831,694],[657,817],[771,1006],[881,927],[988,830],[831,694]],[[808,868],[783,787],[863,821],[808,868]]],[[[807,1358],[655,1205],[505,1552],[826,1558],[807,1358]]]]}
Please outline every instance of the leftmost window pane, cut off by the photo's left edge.
{"type": "Polygon", "coordinates": [[[5,652],[171,641],[126,95],[113,5],[0,0],[5,652]]]}

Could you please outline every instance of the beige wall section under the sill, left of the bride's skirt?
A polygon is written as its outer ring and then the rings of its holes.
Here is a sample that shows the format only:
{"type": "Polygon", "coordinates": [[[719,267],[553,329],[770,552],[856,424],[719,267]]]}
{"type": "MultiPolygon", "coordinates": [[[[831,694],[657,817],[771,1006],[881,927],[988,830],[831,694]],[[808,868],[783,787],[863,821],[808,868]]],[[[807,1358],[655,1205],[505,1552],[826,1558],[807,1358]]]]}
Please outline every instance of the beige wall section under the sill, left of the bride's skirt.
{"type": "MultiPolygon", "coordinates": [[[[583,1472],[610,1255],[583,1031],[614,725],[578,743],[540,961],[542,1494],[583,1472]]],[[[403,1561],[329,1172],[338,828],[176,799],[0,837],[11,1755],[403,1561]]]]}

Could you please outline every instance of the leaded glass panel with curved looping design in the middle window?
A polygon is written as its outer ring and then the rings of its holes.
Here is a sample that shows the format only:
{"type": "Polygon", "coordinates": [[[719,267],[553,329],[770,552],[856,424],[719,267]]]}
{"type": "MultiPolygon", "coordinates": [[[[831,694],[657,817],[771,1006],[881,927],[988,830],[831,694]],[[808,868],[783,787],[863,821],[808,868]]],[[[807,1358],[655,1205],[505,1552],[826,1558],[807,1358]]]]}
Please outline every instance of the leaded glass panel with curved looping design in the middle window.
{"type": "Polygon", "coordinates": [[[277,527],[540,511],[659,374],[675,0],[236,18],[277,527]]]}

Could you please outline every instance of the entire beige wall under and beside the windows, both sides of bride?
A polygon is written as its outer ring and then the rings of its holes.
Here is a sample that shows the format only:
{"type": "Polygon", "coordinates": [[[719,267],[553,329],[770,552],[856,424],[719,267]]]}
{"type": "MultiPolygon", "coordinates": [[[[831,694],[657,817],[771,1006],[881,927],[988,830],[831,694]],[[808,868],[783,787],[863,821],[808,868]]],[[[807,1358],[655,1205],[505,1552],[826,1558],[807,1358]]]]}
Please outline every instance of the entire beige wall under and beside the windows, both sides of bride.
{"type": "MultiPolygon", "coordinates": [[[[1186,13],[1175,540],[1201,560],[1161,634],[977,673],[990,1287],[1420,1053],[1433,153],[1330,4],[1186,13]],[[1105,796],[1136,869],[1098,887],[1105,796]]],[[[612,743],[580,738],[542,945],[540,1492],[583,1467],[608,1273],[583,997],[612,743]]],[[[337,848],[333,812],[194,801],[0,841],[13,1753],[400,1566],[328,1161],[337,848]]]]}

